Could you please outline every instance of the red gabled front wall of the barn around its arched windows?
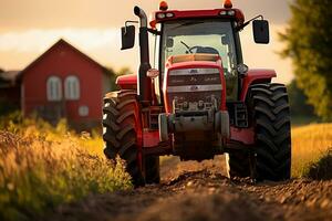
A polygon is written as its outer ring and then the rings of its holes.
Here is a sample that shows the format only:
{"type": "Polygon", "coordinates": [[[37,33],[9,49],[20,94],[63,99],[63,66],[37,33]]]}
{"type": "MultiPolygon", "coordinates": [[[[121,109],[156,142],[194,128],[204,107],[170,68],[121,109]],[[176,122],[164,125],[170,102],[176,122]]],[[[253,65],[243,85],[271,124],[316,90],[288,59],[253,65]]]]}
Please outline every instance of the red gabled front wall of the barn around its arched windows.
{"type": "Polygon", "coordinates": [[[98,65],[70,46],[59,44],[23,75],[24,114],[31,115],[37,109],[39,112],[43,109],[54,115],[54,118],[61,115],[76,125],[100,122],[102,119],[102,73],[103,70],[98,65]],[[52,75],[62,80],[62,102],[48,102],[46,81],[52,75]],[[75,75],[80,80],[80,101],[64,99],[64,80],[69,75],[75,75]],[[86,117],[79,115],[79,108],[83,105],[89,107],[86,117]]]}

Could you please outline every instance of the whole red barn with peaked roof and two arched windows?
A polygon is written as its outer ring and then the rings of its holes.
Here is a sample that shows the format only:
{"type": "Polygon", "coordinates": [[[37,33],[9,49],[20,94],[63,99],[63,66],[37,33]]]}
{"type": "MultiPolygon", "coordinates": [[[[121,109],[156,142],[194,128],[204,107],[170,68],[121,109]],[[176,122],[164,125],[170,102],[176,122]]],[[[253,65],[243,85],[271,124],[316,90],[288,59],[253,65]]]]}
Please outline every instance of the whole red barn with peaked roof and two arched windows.
{"type": "Polygon", "coordinates": [[[66,118],[77,129],[100,125],[111,75],[64,40],[25,67],[21,80],[24,116],[38,115],[51,123],[66,118]]]}

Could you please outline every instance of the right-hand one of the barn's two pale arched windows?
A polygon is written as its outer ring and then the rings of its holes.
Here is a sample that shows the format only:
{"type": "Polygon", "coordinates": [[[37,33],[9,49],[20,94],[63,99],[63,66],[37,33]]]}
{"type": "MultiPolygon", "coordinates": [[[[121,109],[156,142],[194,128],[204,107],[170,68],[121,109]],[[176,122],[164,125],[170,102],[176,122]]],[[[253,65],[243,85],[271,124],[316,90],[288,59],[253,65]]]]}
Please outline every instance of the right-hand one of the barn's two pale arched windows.
{"type": "Polygon", "coordinates": [[[64,80],[64,96],[68,101],[77,101],[81,97],[80,80],[75,75],[70,75],[64,80]]]}

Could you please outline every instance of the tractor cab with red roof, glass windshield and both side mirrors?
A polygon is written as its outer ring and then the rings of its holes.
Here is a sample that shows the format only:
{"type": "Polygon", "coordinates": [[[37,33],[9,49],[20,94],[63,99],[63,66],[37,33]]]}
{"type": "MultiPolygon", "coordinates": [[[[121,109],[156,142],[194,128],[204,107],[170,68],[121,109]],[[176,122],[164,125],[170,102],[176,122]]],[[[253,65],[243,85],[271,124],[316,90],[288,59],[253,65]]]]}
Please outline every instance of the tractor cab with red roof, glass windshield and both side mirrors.
{"type": "MultiPolygon", "coordinates": [[[[141,12],[139,8],[135,10],[137,13],[141,12]]],[[[145,14],[144,11],[142,12],[145,14]]],[[[261,15],[245,22],[242,11],[234,9],[230,1],[226,1],[222,9],[190,11],[169,10],[167,2],[162,1],[159,11],[153,13],[149,27],[144,30],[153,34],[155,43],[153,66],[155,74],[156,70],[158,71],[154,84],[158,103],[163,104],[162,87],[168,59],[184,54],[219,55],[225,80],[227,81],[227,101],[238,101],[240,97],[239,87],[242,83],[240,75],[246,74],[248,71],[242,61],[239,32],[251,21],[253,21],[255,41],[257,43],[269,43],[268,22],[261,15]],[[261,20],[257,20],[258,18],[261,18],[261,20]]],[[[127,25],[131,22],[127,21],[126,27],[122,29],[122,50],[134,46],[135,27],[127,25]]],[[[147,24],[147,20],[143,22],[147,24]]],[[[143,31],[142,23],[139,30],[143,31]]],[[[141,33],[139,41],[148,42],[148,40],[142,39],[143,35],[147,36],[147,34],[141,33]]],[[[144,49],[142,50],[144,51],[144,49]]],[[[142,50],[141,56],[146,57],[146,54],[142,54],[142,50]]]]}

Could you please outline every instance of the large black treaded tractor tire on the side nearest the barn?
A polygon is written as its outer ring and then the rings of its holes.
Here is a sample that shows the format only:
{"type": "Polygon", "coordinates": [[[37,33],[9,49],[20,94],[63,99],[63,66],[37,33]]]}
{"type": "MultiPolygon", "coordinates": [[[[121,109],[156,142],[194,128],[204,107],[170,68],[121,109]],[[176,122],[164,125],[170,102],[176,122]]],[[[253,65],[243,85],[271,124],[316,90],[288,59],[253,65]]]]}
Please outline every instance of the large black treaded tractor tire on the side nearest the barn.
{"type": "Polygon", "coordinates": [[[118,155],[126,162],[126,171],[135,187],[144,186],[142,156],[137,147],[139,107],[134,91],[108,93],[104,98],[103,139],[104,154],[108,159],[118,155]]]}

